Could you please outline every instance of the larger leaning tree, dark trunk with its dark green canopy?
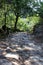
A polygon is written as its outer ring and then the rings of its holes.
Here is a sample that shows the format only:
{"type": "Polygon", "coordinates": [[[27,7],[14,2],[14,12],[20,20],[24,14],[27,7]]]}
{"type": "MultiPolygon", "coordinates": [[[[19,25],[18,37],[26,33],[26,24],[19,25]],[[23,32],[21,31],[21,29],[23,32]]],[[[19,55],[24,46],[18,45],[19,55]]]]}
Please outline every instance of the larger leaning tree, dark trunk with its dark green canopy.
{"type": "Polygon", "coordinates": [[[33,14],[33,3],[35,0],[12,0],[12,7],[11,9],[14,11],[16,16],[16,21],[14,25],[14,29],[17,30],[17,22],[19,17],[26,17],[26,15],[33,14]]]}

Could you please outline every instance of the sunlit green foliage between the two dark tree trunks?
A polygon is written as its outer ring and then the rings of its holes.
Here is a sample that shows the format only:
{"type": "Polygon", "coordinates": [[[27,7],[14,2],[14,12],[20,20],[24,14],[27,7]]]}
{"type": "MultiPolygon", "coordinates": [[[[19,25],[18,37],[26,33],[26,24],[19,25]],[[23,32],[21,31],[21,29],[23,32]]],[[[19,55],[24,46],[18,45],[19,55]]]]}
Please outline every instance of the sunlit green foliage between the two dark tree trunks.
{"type": "Polygon", "coordinates": [[[9,28],[13,28],[14,27],[14,23],[15,23],[15,15],[14,13],[9,12],[9,14],[7,15],[7,21],[6,21],[6,26],[9,28]]]}

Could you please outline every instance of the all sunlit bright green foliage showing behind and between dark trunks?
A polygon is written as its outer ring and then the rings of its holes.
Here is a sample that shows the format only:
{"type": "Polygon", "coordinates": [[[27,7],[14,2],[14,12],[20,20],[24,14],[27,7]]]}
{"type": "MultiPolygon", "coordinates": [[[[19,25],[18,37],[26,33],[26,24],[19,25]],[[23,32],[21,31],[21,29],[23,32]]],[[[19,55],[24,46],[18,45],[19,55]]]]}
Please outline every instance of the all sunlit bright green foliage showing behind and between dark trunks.
{"type": "MultiPolygon", "coordinates": [[[[0,27],[4,24],[3,20],[4,20],[4,15],[2,14],[0,18],[0,27]]],[[[14,15],[14,13],[9,11],[6,18],[6,26],[9,28],[14,28],[15,20],[16,20],[16,16],[14,15]]],[[[23,31],[32,32],[34,25],[38,22],[39,22],[39,17],[36,16],[31,16],[27,18],[19,17],[17,28],[23,31]]]]}

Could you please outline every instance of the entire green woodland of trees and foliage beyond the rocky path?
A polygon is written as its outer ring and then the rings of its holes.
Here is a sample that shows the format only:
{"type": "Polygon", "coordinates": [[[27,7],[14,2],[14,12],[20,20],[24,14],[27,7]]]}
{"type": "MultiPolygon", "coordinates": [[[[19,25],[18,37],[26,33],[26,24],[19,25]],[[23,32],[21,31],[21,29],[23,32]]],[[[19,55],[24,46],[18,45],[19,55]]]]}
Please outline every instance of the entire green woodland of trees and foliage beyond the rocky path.
{"type": "Polygon", "coordinates": [[[43,1],[0,0],[0,32],[32,33],[39,24],[43,25],[43,1]]]}

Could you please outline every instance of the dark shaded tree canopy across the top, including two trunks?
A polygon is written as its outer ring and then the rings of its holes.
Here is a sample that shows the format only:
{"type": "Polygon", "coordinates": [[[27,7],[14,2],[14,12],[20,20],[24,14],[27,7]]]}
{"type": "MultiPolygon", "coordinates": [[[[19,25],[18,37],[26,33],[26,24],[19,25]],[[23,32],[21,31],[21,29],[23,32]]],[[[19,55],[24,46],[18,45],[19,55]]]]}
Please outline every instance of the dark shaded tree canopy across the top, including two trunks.
{"type": "Polygon", "coordinates": [[[19,17],[26,18],[37,15],[43,18],[43,2],[41,0],[0,0],[0,13],[6,27],[7,16],[15,15],[14,30],[17,30],[19,17]],[[10,13],[9,13],[10,12],[10,13]]]}

